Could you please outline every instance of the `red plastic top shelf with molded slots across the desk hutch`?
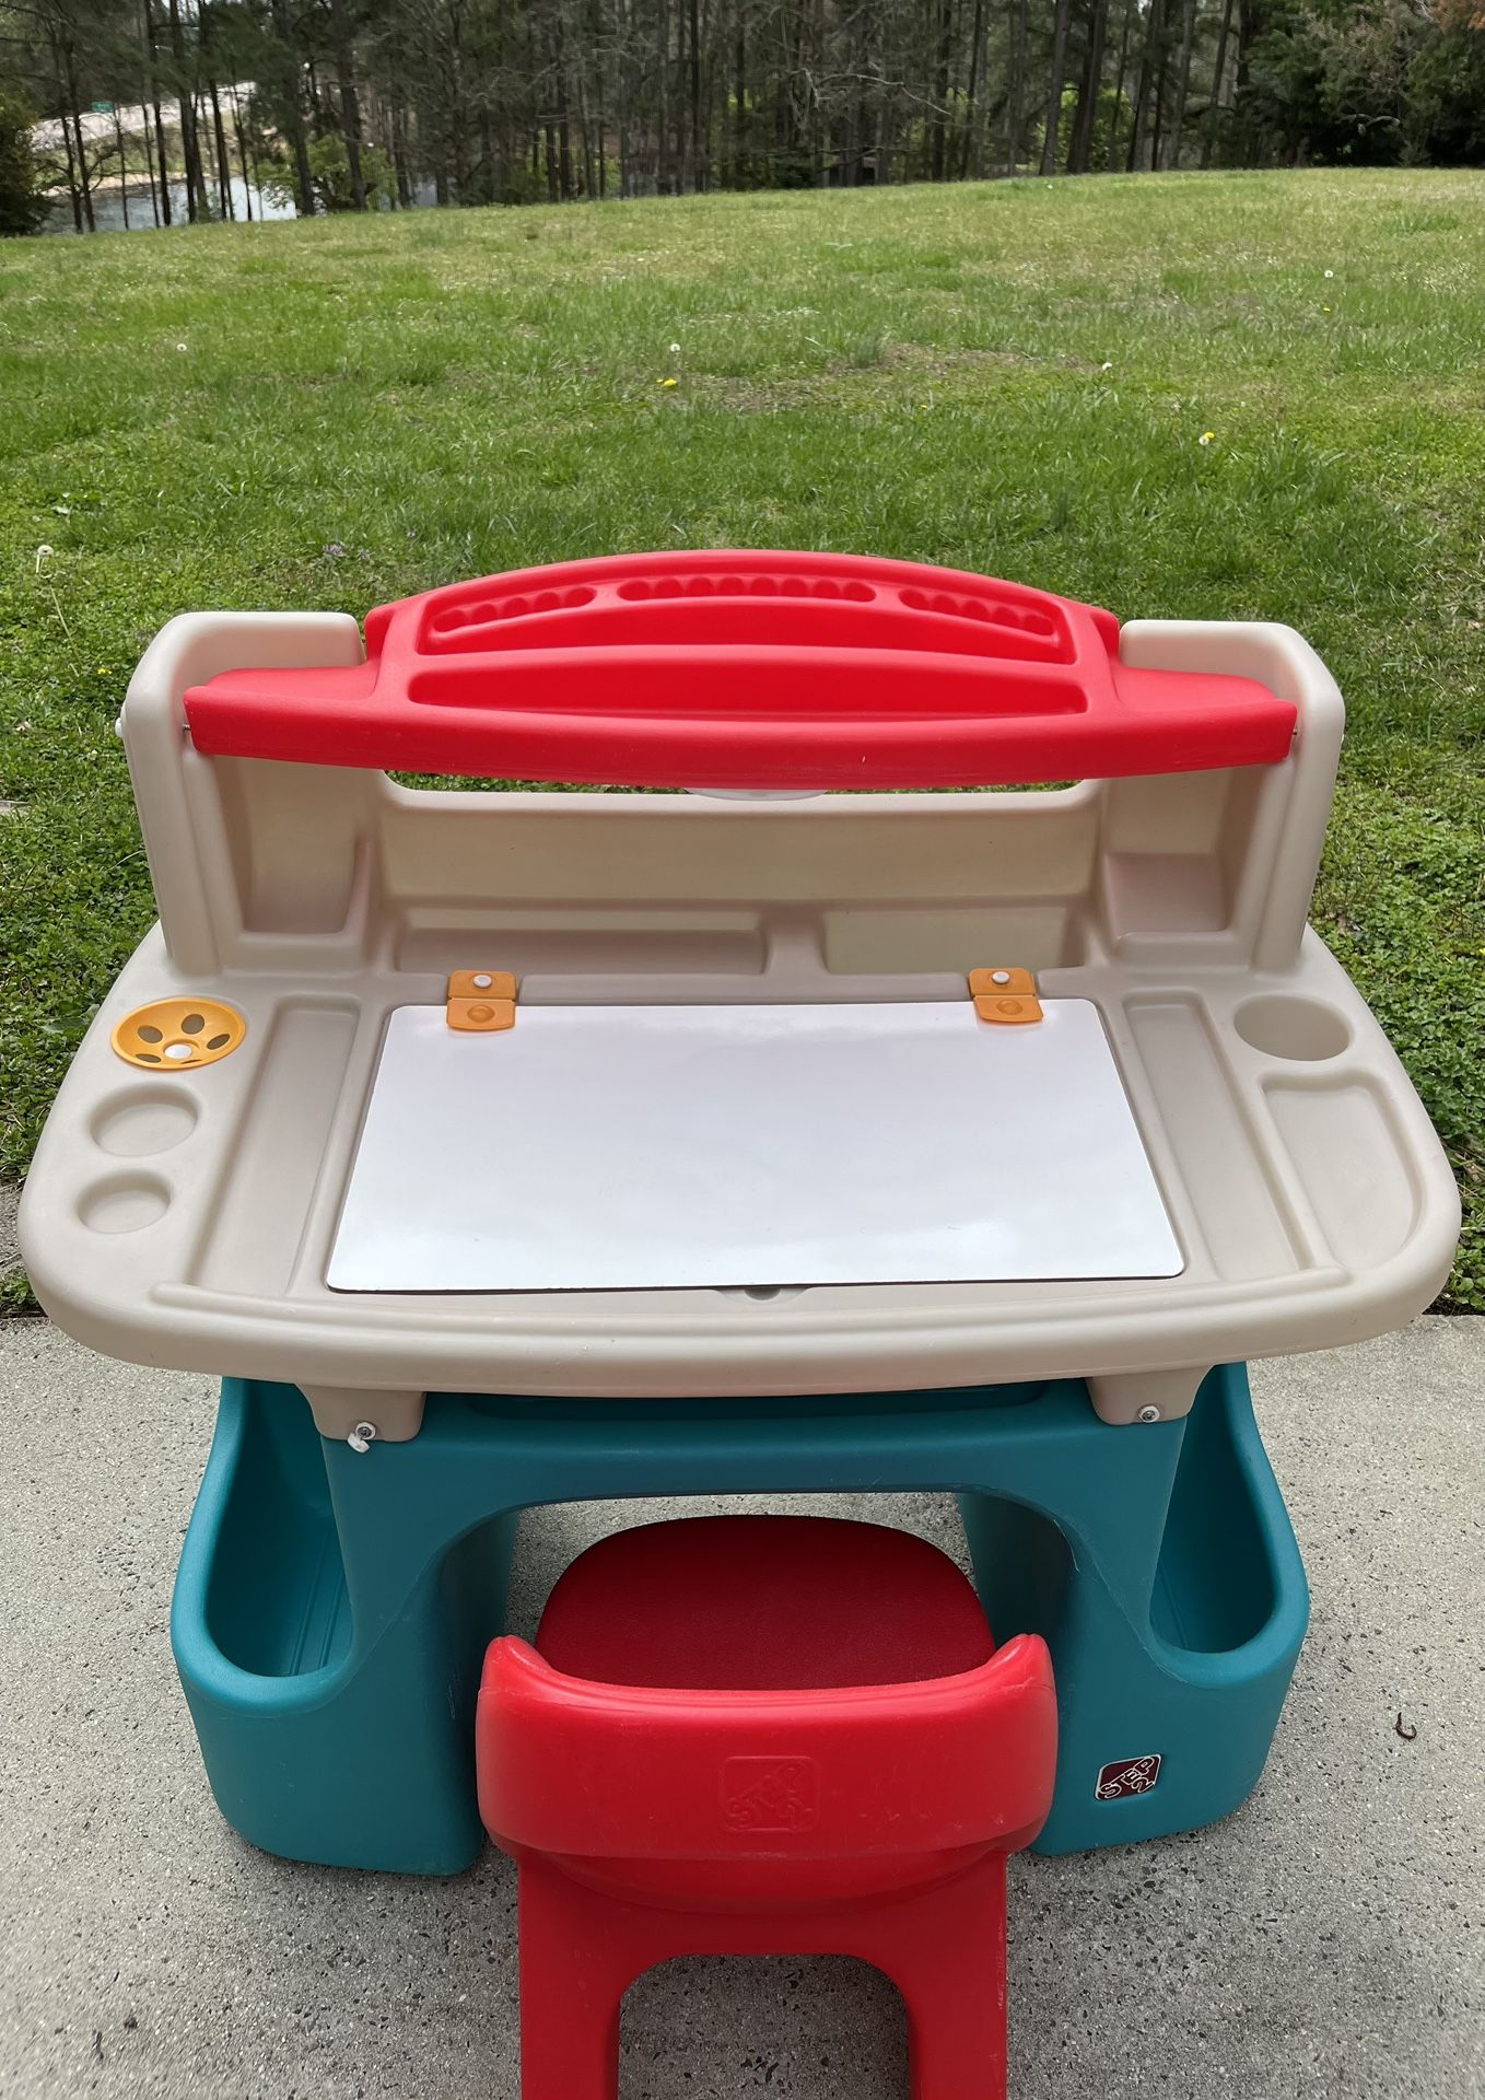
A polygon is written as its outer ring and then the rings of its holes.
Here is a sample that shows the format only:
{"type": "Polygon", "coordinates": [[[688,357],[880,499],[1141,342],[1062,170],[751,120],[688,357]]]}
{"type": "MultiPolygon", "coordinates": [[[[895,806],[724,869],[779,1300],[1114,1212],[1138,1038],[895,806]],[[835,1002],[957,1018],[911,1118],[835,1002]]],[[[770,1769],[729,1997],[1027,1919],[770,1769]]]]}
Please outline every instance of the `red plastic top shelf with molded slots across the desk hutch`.
{"type": "Polygon", "coordinates": [[[1288,758],[1252,678],[1111,613],[861,554],[618,554],[380,605],[351,670],[231,670],[200,752],[611,788],[1006,788],[1288,758]]]}

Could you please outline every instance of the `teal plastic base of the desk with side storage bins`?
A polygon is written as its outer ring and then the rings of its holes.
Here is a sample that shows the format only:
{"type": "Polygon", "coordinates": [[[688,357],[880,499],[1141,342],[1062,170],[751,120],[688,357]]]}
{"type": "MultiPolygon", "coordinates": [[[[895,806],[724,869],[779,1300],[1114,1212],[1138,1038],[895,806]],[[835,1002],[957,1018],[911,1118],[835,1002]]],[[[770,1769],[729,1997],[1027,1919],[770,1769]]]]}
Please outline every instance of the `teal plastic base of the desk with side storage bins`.
{"type": "Polygon", "coordinates": [[[412,1443],[365,1453],[292,1386],[227,1380],[172,1611],[216,1802],[286,1858],[456,1873],[483,1844],[473,1701],[523,1508],[933,1489],[960,1497],[996,1634],[1052,1648],[1038,1850],[1229,1814],[1309,1613],[1241,1365],[1185,1422],[1130,1428],[1078,1380],[689,1409],[431,1394],[412,1443]]]}

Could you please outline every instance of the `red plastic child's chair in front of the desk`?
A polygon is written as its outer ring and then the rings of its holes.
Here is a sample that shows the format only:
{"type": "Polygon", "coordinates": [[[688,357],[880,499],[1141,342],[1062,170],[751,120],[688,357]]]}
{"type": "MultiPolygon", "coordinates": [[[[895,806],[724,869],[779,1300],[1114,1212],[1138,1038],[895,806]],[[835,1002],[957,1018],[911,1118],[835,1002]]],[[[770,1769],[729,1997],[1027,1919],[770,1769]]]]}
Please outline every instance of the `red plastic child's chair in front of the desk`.
{"type": "Polygon", "coordinates": [[[523,2100],[615,2100],[620,2003],[674,1955],[832,1953],[907,2006],[914,2100],[1006,2092],[1006,1854],[1052,1800],[1042,1640],[996,1651],[903,1531],[620,1531],[496,1640],[479,1810],[521,1863],[523,2100]]]}

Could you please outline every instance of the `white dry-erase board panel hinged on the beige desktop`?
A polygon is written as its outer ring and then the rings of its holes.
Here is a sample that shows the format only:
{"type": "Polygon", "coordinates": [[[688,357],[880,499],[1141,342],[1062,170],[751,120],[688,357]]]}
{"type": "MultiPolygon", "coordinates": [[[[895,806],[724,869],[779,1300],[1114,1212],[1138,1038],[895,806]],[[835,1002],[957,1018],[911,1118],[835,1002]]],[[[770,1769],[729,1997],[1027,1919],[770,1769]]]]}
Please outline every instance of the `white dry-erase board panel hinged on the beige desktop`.
{"type": "Polygon", "coordinates": [[[1174,1277],[1099,1010],[401,1006],[338,1292],[1174,1277]]]}

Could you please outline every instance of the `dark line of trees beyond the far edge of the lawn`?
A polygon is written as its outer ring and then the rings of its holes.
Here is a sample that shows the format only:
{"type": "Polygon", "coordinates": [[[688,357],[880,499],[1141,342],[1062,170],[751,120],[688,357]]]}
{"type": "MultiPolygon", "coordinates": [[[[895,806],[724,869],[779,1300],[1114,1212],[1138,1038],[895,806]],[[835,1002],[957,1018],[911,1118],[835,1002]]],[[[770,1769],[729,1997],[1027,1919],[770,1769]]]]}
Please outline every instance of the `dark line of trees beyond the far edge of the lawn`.
{"type": "Polygon", "coordinates": [[[1485,0],[0,0],[0,141],[53,120],[80,231],[120,166],[168,223],[233,176],[319,212],[1485,160],[1485,0]]]}

